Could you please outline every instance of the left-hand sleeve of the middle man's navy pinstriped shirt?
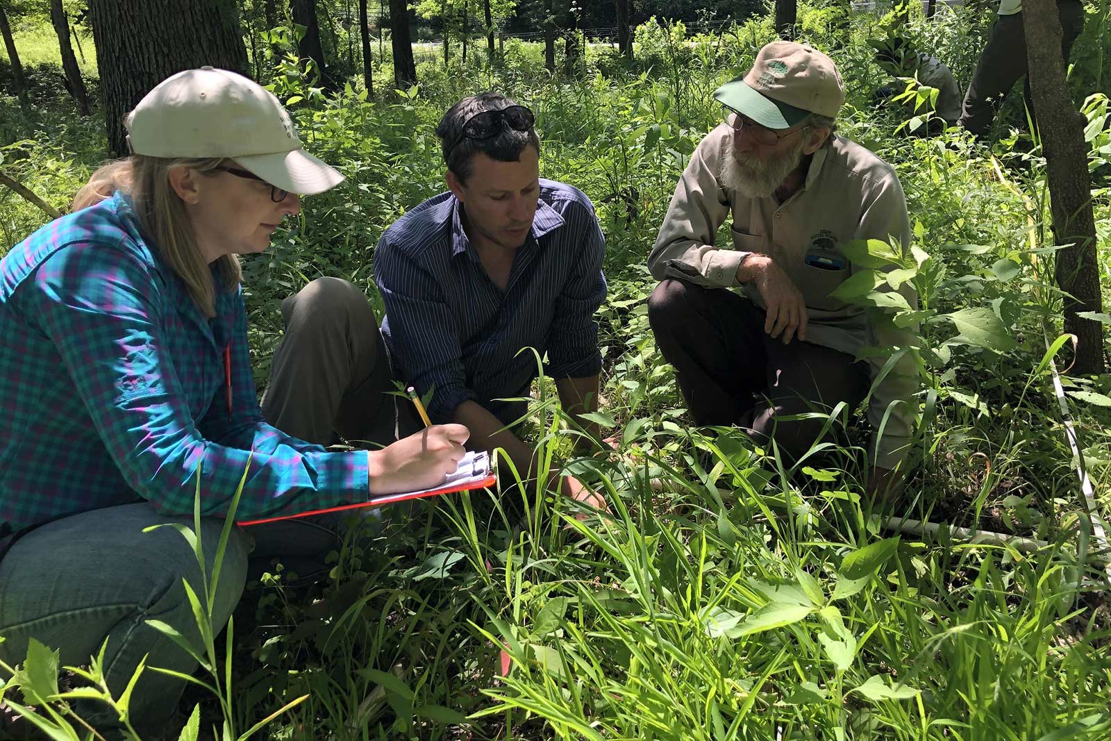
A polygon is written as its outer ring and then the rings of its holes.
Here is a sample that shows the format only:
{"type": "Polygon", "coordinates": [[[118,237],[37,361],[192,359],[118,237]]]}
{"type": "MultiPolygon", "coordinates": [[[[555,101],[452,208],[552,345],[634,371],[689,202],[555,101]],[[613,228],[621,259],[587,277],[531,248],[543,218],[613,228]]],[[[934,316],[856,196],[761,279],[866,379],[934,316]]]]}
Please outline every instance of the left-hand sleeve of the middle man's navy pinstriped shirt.
{"type": "Polygon", "coordinates": [[[432,421],[450,422],[456,408],[477,395],[467,387],[456,318],[440,286],[386,237],[374,252],[374,281],[386,303],[398,370],[421,397],[432,390],[432,421]]]}

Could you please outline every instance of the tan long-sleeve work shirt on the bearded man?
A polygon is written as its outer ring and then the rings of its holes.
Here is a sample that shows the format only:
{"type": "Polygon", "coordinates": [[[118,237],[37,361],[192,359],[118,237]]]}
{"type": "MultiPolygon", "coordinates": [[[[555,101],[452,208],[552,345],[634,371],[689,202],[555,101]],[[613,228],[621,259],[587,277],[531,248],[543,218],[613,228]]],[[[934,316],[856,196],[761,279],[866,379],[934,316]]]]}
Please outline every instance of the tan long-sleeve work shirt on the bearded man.
{"type": "MultiPolygon", "coordinates": [[[[804,261],[808,252],[843,258],[840,246],[854,239],[898,240],[903,249],[910,248],[907,199],[894,169],[865,148],[834,136],[829,147],[813,154],[804,184],[791,198],[783,203],[772,197],[751,199],[722,182],[722,164],[732,157],[731,132],[727,124],[718,126],[691,156],[649,257],[652,276],[734,288],[765,308],[753,284],[737,281],[741,260],[759,252],[771,257],[802,292],[809,311],[808,342],[852,356],[865,347],[893,350],[912,344],[913,333],[869,319],[868,312],[877,310],[829,296],[860,268],[848,259],[840,270],[804,261]],[[732,244],[719,247],[718,230],[730,217],[732,244]]],[[[917,308],[918,297],[909,283],[900,293],[917,308]]],[[[912,356],[904,353],[877,384],[885,362],[884,357],[868,358],[873,381],[868,419],[873,431],[883,431],[873,433],[873,461],[894,468],[911,439],[919,375],[912,356]]]]}

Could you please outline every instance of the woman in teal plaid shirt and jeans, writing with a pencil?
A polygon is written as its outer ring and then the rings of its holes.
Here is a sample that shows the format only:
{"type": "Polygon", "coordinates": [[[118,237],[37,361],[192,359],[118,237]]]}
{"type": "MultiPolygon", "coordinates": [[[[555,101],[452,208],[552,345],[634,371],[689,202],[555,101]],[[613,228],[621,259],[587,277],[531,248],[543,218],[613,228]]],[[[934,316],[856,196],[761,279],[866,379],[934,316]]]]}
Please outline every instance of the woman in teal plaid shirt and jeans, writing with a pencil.
{"type": "MultiPolygon", "coordinates": [[[[267,424],[236,256],[267,249],[300,211],[297,193],[343,178],[301,149],[277,98],[233,72],[176,74],[126,124],[133,154],[93,176],[74,202],[89,208],[0,261],[0,658],[17,663],[34,638],[62,663],[87,663],[107,639],[116,697],[144,655],[196,669],[146,621],[197,641],[181,581],[200,591],[199,567],[178,533],[144,528],[191,525],[199,492],[211,558],[244,471],[237,519],[292,514],[432,487],[468,437],[446,424],[373,452],[327,452],[267,424]]],[[[260,545],[331,547],[304,539],[317,531],[304,524],[267,527],[260,545]]],[[[234,531],[217,620],[239,600],[253,540],[234,531]]],[[[164,730],[181,688],[144,672],[132,725],[164,730]]],[[[104,712],[79,709],[122,733],[104,712]]]]}

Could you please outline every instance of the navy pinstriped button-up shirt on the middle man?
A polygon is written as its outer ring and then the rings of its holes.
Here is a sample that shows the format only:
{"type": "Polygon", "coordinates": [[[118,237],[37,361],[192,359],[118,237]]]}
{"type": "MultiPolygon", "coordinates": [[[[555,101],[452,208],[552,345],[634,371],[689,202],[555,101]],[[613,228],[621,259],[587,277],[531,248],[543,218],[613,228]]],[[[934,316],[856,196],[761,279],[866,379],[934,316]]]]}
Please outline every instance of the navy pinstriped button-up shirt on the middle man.
{"type": "Polygon", "coordinates": [[[602,367],[594,311],[605,298],[605,240],[581,191],[540,181],[532,230],[513,260],[507,290],[487,274],[463,231],[454,196],[431,198],[386,230],[374,278],[386,301],[394,370],[423,394],[433,421],[450,421],[468,399],[512,422],[547,353],[552,378],[588,378],[602,367]]]}

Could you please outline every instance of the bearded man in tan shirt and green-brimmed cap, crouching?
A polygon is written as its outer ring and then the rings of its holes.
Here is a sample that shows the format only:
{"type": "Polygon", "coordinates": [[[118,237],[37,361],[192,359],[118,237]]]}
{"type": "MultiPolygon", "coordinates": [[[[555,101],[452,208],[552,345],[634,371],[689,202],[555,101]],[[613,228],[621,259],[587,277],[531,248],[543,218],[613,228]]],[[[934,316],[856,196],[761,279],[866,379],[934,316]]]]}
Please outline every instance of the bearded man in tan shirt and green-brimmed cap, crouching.
{"type": "MultiPolygon", "coordinates": [[[[811,47],[769,43],[714,98],[725,121],[691,156],[649,258],[657,346],[697,424],[739,424],[794,459],[825,420],[783,417],[867,398],[869,490],[885,490],[907,468],[917,338],[830,292],[859,270],[847,242],[910,249],[899,179],[834,133],[844,87],[811,47]],[[718,247],[727,219],[732,244],[718,247]]],[[[900,293],[917,307],[908,283],[900,293]]]]}

